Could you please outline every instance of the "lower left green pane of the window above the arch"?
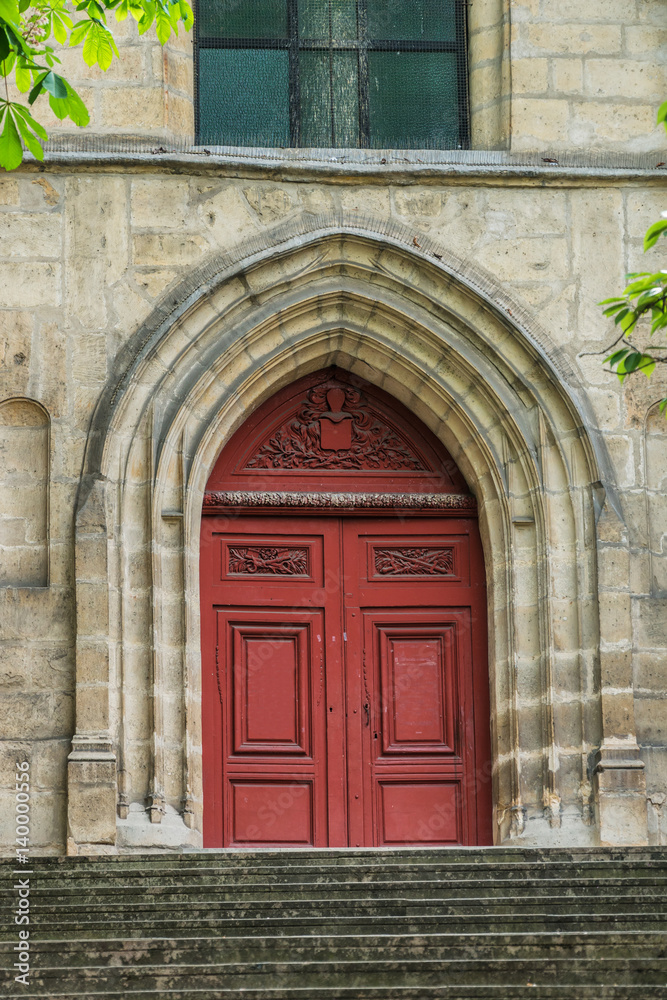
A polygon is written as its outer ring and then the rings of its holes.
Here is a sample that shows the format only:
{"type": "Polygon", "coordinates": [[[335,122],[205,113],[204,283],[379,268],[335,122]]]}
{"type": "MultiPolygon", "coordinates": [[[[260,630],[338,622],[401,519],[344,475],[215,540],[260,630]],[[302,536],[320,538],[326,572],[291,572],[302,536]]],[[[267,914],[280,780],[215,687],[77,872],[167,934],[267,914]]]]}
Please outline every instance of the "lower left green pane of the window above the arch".
{"type": "Polygon", "coordinates": [[[287,52],[201,49],[201,142],[224,146],[289,146],[287,52]]]}

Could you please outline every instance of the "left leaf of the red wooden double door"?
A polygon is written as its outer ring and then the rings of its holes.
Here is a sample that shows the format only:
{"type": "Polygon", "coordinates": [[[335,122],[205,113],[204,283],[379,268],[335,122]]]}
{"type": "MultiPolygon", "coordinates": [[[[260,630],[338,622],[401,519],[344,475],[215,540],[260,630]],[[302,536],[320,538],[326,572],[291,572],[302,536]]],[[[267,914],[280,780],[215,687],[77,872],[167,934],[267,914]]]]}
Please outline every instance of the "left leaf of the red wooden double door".
{"type": "Polygon", "coordinates": [[[328,533],[321,522],[294,534],[285,522],[272,533],[264,519],[239,519],[234,532],[209,525],[205,846],[326,845],[328,533]]]}

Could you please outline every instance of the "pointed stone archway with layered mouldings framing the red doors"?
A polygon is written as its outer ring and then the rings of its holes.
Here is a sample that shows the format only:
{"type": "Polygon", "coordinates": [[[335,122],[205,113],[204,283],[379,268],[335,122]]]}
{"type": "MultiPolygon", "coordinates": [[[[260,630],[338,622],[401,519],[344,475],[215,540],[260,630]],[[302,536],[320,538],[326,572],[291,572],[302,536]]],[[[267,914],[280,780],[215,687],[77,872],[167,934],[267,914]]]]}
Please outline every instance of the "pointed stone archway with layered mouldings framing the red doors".
{"type": "Polygon", "coordinates": [[[125,349],[77,516],[72,851],[201,842],[204,487],[249,412],[330,364],[413,410],[477,496],[497,839],[645,837],[634,723],[627,690],[605,690],[598,614],[596,537],[622,524],[607,502],[596,534],[613,481],[574,372],[488,276],[381,228],[274,232],[270,250],[212,261],[125,349]]]}

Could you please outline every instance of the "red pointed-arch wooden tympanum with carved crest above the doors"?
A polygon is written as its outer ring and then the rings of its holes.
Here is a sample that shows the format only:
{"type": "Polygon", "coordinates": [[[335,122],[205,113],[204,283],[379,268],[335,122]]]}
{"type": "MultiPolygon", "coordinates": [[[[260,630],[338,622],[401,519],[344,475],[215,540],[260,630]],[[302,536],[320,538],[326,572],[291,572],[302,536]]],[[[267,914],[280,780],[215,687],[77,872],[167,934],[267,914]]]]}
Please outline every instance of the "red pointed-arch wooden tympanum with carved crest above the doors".
{"type": "Polygon", "coordinates": [[[337,368],[308,375],[260,406],[221,453],[206,488],[469,492],[423,424],[337,368]]]}

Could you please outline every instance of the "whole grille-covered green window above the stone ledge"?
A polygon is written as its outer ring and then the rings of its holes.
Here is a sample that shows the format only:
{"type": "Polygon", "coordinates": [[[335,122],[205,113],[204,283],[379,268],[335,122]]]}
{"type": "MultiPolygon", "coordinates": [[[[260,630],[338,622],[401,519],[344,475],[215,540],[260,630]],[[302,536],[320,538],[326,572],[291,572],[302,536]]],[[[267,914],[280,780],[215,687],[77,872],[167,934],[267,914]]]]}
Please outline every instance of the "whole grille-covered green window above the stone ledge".
{"type": "Polygon", "coordinates": [[[197,0],[200,144],[469,146],[465,0],[197,0]]]}

